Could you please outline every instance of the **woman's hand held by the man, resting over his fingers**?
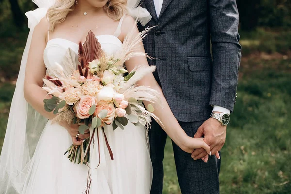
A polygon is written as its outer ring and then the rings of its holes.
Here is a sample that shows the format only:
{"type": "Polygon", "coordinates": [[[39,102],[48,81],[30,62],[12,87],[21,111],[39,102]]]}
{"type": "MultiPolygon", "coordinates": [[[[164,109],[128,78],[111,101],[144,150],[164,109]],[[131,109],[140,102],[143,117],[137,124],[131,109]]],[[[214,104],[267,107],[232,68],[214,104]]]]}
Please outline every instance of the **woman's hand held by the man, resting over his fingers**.
{"type": "Polygon", "coordinates": [[[187,153],[193,153],[194,149],[204,148],[206,152],[211,155],[210,146],[208,146],[203,139],[204,138],[192,138],[187,136],[184,140],[183,146],[179,147],[187,153]]]}

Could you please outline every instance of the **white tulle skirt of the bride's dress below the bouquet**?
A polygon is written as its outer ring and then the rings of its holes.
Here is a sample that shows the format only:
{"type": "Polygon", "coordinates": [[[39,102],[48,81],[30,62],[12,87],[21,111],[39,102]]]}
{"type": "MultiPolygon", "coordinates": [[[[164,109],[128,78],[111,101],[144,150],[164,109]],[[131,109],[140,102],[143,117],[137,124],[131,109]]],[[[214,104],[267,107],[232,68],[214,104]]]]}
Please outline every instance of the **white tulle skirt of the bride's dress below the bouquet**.
{"type": "MultiPolygon", "coordinates": [[[[124,130],[105,127],[112,161],[101,129],[100,165],[97,151],[90,156],[89,167],[70,162],[65,150],[72,144],[67,130],[46,125],[32,158],[21,194],[82,194],[91,175],[90,194],[149,194],[152,165],[146,141],[146,129],[129,123],[124,130]],[[96,168],[96,169],[95,169],[96,168]]],[[[94,146],[97,146],[97,142],[94,146]]],[[[95,147],[95,150],[98,150],[95,147]]]]}

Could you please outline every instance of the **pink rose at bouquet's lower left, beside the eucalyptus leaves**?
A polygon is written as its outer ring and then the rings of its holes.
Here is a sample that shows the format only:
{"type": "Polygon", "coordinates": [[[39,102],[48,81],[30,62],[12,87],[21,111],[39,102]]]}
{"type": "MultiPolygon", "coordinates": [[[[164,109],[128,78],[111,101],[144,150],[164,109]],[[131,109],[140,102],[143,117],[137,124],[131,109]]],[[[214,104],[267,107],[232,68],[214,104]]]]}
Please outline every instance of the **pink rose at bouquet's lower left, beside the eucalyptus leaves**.
{"type": "Polygon", "coordinates": [[[90,116],[89,110],[91,106],[93,106],[94,104],[95,104],[94,97],[89,95],[81,97],[74,107],[77,117],[80,119],[88,118],[90,116]]]}

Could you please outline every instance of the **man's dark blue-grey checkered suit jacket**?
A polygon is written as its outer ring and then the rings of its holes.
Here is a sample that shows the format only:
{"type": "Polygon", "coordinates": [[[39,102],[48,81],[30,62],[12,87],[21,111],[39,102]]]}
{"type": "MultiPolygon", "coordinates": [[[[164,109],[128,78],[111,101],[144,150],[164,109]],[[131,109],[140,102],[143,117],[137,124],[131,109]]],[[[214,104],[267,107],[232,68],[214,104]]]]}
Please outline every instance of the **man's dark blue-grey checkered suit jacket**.
{"type": "Polygon", "coordinates": [[[206,120],[218,105],[233,111],[241,58],[235,0],[153,0],[141,3],[156,26],[144,40],[154,73],[179,121],[206,120]],[[211,44],[212,43],[212,54],[211,44]]]}

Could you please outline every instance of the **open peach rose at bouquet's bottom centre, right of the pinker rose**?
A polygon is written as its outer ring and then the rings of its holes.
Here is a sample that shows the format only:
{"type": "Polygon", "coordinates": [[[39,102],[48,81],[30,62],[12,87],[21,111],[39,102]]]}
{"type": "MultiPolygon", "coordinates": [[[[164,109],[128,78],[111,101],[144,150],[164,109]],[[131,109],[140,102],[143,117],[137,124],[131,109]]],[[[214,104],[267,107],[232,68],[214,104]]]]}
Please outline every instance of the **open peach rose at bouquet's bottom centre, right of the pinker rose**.
{"type": "Polygon", "coordinates": [[[97,104],[97,107],[95,109],[94,116],[98,115],[101,110],[107,110],[107,115],[105,118],[101,119],[103,122],[105,122],[107,125],[110,125],[115,118],[115,108],[113,103],[107,103],[105,101],[100,101],[97,104]]]}

